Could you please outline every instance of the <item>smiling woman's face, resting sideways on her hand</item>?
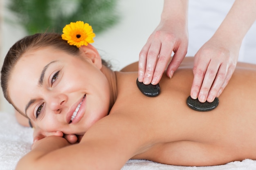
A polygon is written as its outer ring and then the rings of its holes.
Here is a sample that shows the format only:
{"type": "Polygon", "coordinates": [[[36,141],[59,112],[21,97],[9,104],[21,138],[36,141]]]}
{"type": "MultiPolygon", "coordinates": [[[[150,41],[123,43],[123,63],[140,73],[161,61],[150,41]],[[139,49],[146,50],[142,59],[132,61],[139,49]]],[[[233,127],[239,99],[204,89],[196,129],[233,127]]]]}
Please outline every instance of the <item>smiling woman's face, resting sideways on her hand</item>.
{"type": "Polygon", "coordinates": [[[27,51],[9,81],[13,104],[46,132],[83,135],[108,115],[110,105],[101,65],[86,55],[49,47],[27,51]]]}

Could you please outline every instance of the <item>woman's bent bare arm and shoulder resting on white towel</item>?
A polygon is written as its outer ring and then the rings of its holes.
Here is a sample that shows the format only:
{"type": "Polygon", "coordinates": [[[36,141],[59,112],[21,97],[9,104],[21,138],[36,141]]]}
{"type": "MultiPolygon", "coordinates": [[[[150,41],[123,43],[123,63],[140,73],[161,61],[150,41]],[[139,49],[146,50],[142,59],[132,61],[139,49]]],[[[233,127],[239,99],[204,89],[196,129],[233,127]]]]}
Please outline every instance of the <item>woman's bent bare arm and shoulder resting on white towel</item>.
{"type": "Polygon", "coordinates": [[[70,145],[56,136],[37,141],[16,170],[120,170],[140,151],[146,138],[125,116],[105,118],[94,124],[79,144],[70,145]]]}

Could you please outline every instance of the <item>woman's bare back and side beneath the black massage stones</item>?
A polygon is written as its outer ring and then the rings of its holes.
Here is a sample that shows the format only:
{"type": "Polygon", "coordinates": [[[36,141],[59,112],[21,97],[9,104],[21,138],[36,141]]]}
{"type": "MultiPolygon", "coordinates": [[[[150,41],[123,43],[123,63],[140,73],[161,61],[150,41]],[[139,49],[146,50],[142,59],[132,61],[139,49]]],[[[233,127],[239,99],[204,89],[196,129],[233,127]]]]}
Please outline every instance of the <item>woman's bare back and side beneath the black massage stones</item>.
{"type": "MultiPolygon", "coordinates": [[[[132,66],[136,68],[136,64],[132,66]]],[[[128,69],[132,70],[132,66],[128,69]]],[[[215,160],[213,164],[216,161],[221,164],[237,159],[256,159],[253,155],[256,150],[256,66],[238,63],[219,97],[218,107],[208,112],[195,111],[186,105],[193,82],[192,66],[193,58],[185,58],[172,79],[164,74],[157,97],[146,97],[139,91],[137,73],[117,73],[118,97],[110,115],[118,113],[132,119],[133,126],[141,133],[141,144],[151,143],[146,152],[143,150],[135,158],[150,157],[153,161],[179,164],[173,157],[184,152],[184,159],[191,155],[190,159],[194,160],[188,161],[187,165],[211,165],[211,161],[207,161],[208,164],[202,161],[211,156],[215,160]],[[157,148],[166,143],[164,148],[157,148]],[[174,145],[178,145],[175,151],[174,145]],[[198,147],[198,154],[195,150],[190,154],[189,149],[182,149],[187,146],[198,147]],[[170,152],[166,152],[169,149],[170,152]],[[155,157],[151,153],[153,150],[158,153],[155,157]]],[[[184,163],[182,158],[180,156],[180,162],[184,163]]]]}

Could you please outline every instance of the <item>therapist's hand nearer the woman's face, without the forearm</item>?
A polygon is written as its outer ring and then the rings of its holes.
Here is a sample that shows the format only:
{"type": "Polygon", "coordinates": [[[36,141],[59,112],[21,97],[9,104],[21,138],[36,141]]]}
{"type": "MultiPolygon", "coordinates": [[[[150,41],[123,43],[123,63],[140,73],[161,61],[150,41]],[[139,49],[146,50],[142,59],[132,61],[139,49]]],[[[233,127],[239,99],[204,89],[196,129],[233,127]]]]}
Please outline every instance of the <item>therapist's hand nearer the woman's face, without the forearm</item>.
{"type": "Polygon", "coordinates": [[[157,84],[166,66],[168,77],[180,66],[188,48],[186,24],[161,22],[150,35],[139,54],[138,80],[144,84],[157,84]],[[170,62],[171,54],[174,52],[170,62]]]}

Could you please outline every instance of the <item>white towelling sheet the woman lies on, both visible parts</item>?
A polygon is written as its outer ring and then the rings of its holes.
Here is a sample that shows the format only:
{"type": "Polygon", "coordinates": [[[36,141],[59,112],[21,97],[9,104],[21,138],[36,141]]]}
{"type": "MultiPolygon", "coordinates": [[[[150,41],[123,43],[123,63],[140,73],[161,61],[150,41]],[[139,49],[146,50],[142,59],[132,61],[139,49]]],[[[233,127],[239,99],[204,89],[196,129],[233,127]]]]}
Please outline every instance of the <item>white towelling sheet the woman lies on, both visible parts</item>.
{"type": "MultiPolygon", "coordinates": [[[[30,151],[31,128],[20,126],[13,114],[0,112],[0,170],[14,170],[18,160],[30,151]]],[[[170,166],[146,160],[130,160],[122,170],[256,170],[256,161],[246,159],[221,166],[170,166]]]]}

